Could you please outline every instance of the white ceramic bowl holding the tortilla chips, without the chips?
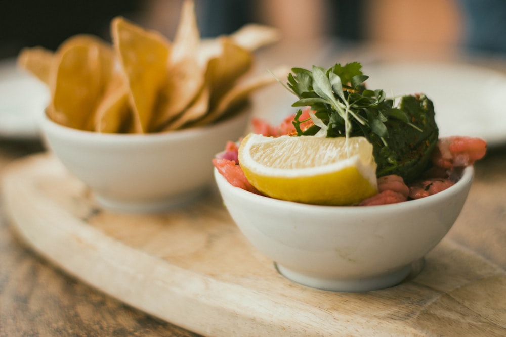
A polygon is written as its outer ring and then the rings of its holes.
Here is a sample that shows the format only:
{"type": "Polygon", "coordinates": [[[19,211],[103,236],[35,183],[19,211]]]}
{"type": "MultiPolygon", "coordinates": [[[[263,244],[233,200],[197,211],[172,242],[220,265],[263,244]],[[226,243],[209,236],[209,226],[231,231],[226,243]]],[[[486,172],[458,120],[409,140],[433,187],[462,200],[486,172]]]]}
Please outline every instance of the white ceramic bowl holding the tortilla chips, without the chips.
{"type": "Polygon", "coordinates": [[[250,109],[200,128],[152,134],[107,134],[61,126],[46,116],[41,130],[70,173],[104,208],[159,212],[194,199],[213,183],[211,159],[248,125],[250,109]]]}

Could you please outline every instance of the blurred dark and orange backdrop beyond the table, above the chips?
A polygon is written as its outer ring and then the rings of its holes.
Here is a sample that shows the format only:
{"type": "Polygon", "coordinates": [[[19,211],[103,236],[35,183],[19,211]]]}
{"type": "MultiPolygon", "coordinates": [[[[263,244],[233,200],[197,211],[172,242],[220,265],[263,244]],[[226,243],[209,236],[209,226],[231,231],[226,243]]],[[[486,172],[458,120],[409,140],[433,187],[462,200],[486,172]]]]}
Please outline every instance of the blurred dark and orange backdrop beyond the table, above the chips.
{"type": "MultiPolygon", "coordinates": [[[[110,39],[109,23],[122,15],[172,39],[181,0],[16,0],[0,11],[0,58],[24,46],[55,50],[69,36],[110,39]]],[[[397,48],[458,47],[506,52],[503,0],[196,0],[204,37],[230,33],[247,22],[279,27],[285,42],[322,37],[397,48]]]]}

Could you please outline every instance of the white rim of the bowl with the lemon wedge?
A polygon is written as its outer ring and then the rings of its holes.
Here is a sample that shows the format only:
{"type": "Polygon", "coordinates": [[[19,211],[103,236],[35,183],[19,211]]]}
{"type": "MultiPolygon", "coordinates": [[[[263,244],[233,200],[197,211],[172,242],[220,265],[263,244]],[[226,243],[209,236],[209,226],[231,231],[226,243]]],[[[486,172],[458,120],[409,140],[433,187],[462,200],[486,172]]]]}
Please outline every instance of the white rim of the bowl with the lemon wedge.
{"type": "MultiPolygon", "coordinates": [[[[231,185],[226,178],[218,171],[216,167],[214,167],[214,175],[215,180],[218,184],[218,187],[222,185],[226,188],[230,193],[240,199],[246,199],[251,203],[261,203],[265,205],[269,205],[269,207],[290,207],[290,208],[298,208],[301,212],[321,212],[321,213],[332,213],[332,212],[343,212],[343,213],[365,213],[365,212],[391,212],[394,210],[398,210],[400,206],[402,206],[403,210],[414,210],[424,208],[428,205],[432,205],[437,199],[445,200],[447,198],[452,198],[452,196],[458,195],[461,191],[465,190],[467,187],[471,186],[474,177],[474,166],[468,166],[463,169],[462,175],[460,179],[451,187],[438,192],[435,195],[431,195],[425,198],[408,200],[401,203],[395,204],[387,204],[387,205],[370,205],[370,206],[332,206],[332,205],[312,205],[312,204],[304,204],[294,201],[280,200],[275,199],[263,195],[258,195],[253,192],[249,192],[240,187],[235,187],[231,185]]],[[[220,188],[221,192],[221,188],[220,188]]]]}

